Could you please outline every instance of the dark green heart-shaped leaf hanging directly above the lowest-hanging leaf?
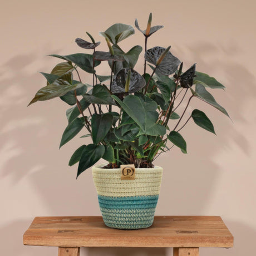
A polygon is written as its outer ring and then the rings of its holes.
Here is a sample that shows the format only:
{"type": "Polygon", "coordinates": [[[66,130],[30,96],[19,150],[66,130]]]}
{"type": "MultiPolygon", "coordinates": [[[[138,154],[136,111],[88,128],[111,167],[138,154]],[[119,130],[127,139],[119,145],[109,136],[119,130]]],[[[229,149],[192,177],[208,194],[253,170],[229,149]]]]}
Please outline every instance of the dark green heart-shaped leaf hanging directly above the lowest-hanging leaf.
{"type": "Polygon", "coordinates": [[[92,125],[92,141],[93,144],[98,144],[109,132],[113,122],[113,116],[110,113],[103,115],[93,114],[92,125]]]}

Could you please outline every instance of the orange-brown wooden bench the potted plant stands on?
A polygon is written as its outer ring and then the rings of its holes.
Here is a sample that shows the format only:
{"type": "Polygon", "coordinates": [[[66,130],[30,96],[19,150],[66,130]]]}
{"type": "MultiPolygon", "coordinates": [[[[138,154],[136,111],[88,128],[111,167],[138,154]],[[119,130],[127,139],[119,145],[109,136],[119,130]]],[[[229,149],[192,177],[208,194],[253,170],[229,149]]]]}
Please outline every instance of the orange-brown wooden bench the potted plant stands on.
{"type": "Polygon", "coordinates": [[[58,247],[59,256],[78,256],[80,247],[173,247],[174,256],[198,256],[199,247],[233,247],[219,216],[155,216],[150,228],[119,230],[101,216],[36,217],[25,245],[58,247]]]}

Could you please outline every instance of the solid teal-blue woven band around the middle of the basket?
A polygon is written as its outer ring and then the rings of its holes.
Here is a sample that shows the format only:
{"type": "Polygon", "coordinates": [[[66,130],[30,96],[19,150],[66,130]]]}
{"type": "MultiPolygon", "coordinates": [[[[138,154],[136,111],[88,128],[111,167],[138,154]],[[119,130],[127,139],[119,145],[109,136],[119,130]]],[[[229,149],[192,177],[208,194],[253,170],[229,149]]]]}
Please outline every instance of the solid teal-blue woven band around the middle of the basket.
{"type": "Polygon", "coordinates": [[[112,197],[98,195],[100,208],[147,209],[155,208],[158,195],[112,197]]]}

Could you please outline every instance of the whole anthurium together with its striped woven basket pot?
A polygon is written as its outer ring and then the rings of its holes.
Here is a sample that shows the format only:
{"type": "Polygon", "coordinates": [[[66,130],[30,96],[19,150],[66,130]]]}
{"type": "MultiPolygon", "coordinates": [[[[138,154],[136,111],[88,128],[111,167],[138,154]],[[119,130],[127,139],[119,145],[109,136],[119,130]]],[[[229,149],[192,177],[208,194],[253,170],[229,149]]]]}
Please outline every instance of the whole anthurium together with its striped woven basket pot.
{"type": "Polygon", "coordinates": [[[170,46],[147,49],[149,37],[163,28],[152,27],[151,21],[150,13],[142,31],[135,20],[135,27],[145,37],[144,72],[140,74],[135,67],[142,47],[136,45],[125,52],[119,46],[135,33],[134,28],[117,23],[100,32],[107,51],[96,51],[100,42],[86,32],[91,42],[77,38],[76,43],[91,53],[51,55],[63,61],[50,73],[42,73],[47,85],[29,103],[60,97],[72,106],[66,111],[68,125],[60,147],[83,129],[86,134],[81,138],[91,137],[92,142],[82,142],[71,156],[70,166],[79,163],[77,177],[100,159],[108,162],[94,166],[92,172],[104,222],[113,228],[150,227],[163,174],[154,160],[173,146],[186,154],[180,131],[189,120],[215,134],[201,110],[193,110],[184,120],[191,100],[202,100],[228,116],[208,91],[224,88],[215,78],[196,71],[195,64],[184,71],[183,62],[171,54],[170,46]],[[104,61],[109,63],[110,72],[100,75],[96,68],[104,61]],[[80,71],[92,77],[82,81],[80,71]],[[187,101],[185,107],[183,101],[187,101]]]}

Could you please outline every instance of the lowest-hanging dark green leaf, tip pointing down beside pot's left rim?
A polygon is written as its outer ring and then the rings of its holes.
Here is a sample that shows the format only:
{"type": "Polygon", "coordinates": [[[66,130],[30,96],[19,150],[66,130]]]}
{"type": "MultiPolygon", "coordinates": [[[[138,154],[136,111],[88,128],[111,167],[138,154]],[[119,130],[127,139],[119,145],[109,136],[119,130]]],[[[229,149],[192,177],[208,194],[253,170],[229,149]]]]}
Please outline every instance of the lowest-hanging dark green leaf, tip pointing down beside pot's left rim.
{"type": "Polygon", "coordinates": [[[97,163],[104,155],[105,147],[104,145],[95,145],[89,144],[87,145],[81,155],[81,159],[78,165],[78,171],[76,178],[86,169],[90,168],[92,165],[97,163]]]}

